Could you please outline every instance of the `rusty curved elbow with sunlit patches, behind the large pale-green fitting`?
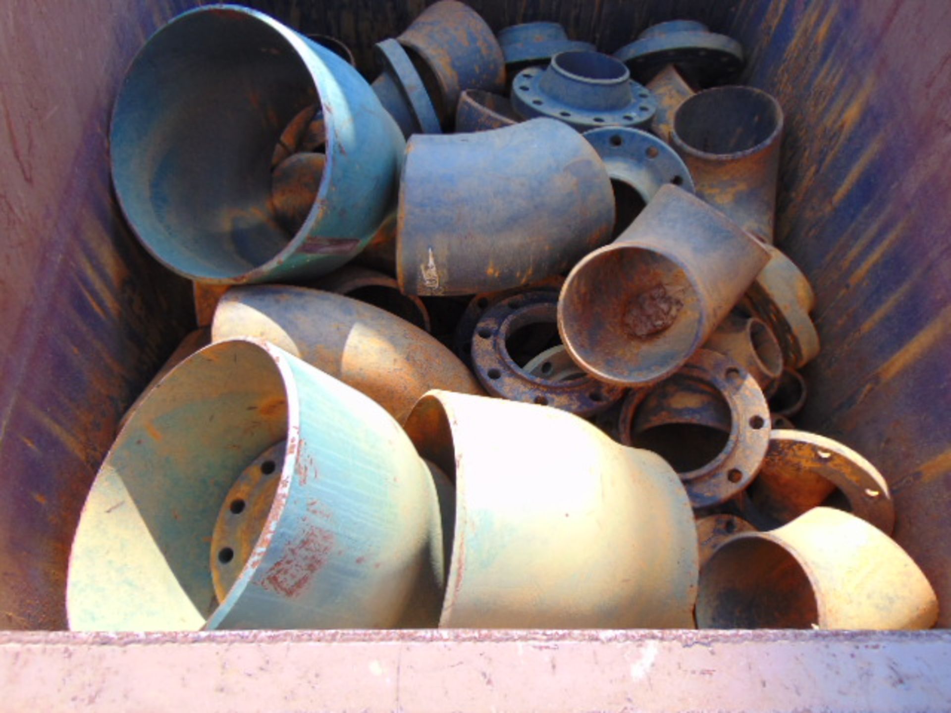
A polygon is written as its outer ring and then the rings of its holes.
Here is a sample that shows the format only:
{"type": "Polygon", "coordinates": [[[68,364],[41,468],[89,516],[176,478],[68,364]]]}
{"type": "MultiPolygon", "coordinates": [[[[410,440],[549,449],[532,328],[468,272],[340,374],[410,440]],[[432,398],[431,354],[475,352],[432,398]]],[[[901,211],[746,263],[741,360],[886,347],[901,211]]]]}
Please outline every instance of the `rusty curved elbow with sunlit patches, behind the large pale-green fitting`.
{"type": "Polygon", "coordinates": [[[225,293],[213,342],[266,339],[370,396],[400,422],[430,389],[482,394],[476,377],[434,337],[371,304],[305,287],[225,293]]]}

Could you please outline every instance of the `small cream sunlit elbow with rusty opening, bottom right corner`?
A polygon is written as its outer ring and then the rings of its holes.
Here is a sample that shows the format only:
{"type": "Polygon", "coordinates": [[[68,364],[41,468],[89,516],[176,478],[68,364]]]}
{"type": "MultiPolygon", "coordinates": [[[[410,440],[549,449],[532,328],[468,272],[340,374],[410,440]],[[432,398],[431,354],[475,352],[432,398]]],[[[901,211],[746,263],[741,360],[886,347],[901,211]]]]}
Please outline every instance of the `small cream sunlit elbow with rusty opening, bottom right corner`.
{"type": "Polygon", "coordinates": [[[717,549],[700,574],[696,615],[701,628],[918,629],[934,626],[938,600],[881,530],[815,508],[717,549]]]}

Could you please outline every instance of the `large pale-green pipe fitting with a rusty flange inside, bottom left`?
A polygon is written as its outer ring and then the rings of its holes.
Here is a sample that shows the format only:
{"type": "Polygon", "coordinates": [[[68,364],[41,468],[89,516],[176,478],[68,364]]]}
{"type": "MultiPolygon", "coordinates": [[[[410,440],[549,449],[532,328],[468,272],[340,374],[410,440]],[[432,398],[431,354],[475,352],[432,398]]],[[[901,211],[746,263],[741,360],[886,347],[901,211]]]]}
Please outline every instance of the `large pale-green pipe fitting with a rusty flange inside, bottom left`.
{"type": "Polygon", "coordinates": [[[442,539],[433,476],[389,414],[274,345],[212,344],[146,396],[97,474],[69,627],[433,626],[442,539]]]}

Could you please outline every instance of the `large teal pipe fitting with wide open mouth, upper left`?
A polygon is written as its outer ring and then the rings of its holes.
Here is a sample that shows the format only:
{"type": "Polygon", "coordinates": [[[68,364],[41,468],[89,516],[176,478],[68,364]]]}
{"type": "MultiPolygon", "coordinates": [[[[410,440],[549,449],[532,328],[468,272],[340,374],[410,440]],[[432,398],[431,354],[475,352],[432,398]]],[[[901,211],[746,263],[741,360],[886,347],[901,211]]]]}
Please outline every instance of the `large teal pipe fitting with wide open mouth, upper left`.
{"type": "Polygon", "coordinates": [[[119,91],[110,147],[116,195],[149,252],[219,283],[317,277],[353,258],[392,209],[404,152],[354,67],[237,6],[190,10],[152,35],[119,91]],[[271,209],[270,169],[285,126],[315,102],[326,168],[291,235],[271,209]]]}

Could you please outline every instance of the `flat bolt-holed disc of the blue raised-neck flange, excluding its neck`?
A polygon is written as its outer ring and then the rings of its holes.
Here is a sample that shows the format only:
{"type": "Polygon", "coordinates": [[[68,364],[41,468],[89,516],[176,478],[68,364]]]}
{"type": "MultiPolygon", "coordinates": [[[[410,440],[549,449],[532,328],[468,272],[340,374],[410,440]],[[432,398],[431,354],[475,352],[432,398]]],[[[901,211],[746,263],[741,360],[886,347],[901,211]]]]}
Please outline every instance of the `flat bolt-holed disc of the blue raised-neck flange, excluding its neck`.
{"type": "Polygon", "coordinates": [[[547,116],[586,131],[601,126],[647,126],[657,112],[657,100],[650,90],[631,79],[627,80],[632,96],[628,106],[609,111],[566,104],[541,89],[541,77],[545,71],[548,70],[539,67],[523,69],[512,83],[512,105],[526,118],[547,116]]]}

